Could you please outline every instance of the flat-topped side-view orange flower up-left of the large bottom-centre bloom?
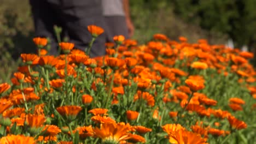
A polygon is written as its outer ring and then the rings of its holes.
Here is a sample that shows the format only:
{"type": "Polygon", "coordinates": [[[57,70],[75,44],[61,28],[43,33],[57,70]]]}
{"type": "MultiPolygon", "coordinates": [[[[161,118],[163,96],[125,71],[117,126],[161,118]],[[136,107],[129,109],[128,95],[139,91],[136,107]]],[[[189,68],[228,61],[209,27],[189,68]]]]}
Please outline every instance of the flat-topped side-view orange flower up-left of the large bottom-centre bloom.
{"type": "Polygon", "coordinates": [[[56,110],[60,113],[61,116],[77,116],[78,113],[82,110],[82,107],[66,105],[57,107],[56,110]]]}

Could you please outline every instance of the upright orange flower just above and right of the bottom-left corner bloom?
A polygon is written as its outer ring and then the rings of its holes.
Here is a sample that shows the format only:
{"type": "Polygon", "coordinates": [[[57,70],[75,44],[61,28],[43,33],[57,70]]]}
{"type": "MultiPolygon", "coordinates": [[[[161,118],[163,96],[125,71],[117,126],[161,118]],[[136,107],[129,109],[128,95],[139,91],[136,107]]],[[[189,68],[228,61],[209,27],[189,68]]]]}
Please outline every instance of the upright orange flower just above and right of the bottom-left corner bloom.
{"type": "Polygon", "coordinates": [[[30,125],[30,127],[42,127],[43,123],[46,121],[44,115],[32,115],[28,114],[26,116],[26,122],[27,125],[30,125]]]}

